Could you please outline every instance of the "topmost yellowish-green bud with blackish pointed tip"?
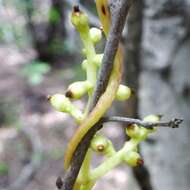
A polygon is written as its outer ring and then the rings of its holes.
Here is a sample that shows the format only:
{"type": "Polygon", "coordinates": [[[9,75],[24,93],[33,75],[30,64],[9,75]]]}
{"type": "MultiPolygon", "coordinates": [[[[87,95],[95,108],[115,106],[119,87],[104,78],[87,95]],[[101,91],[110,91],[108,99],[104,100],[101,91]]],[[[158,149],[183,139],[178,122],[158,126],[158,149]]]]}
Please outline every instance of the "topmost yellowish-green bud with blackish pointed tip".
{"type": "Polygon", "coordinates": [[[82,12],[78,6],[74,6],[73,8],[71,22],[81,33],[85,33],[89,30],[88,16],[82,12]]]}

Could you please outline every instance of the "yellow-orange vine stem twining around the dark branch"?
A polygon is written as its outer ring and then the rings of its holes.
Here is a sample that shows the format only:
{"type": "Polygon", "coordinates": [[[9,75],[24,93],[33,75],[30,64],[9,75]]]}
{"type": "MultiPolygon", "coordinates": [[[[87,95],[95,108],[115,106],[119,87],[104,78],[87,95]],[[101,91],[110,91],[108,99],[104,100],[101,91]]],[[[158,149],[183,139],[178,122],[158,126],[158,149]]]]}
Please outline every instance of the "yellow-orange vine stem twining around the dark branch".
{"type": "MultiPolygon", "coordinates": [[[[110,25],[111,25],[110,24],[111,17],[110,17],[110,11],[109,11],[107,0],[96,0],[96,7],[97,7],[100,21],[103,26],[104,33],[107,37],[110,30],[110,25]]],[[[84,121],[79,126],[76,133],[71,138],[68,144],[68,147],[65,152],[65,160],[64,160],[65,169],[68,169],[70,165],[70,161],[73,157],[73,153],[76,150],[82,138],[89,131],[89,129],[93,127],[100,120],[100,118],[106,113],[106,111],[112,105],[112,102],[115,99],[116,92],[121,81],[122,63],[123,63],[123,51],[122,51],[121,44],[119,44],[119,48],[117,50],[115,60],[114,60],[113,70],[112,70],[112,73],[108,82],[108,86],[105,92],[101,95],[96,106],[89,113],[89,115],[84,119],[84,121]]]]}

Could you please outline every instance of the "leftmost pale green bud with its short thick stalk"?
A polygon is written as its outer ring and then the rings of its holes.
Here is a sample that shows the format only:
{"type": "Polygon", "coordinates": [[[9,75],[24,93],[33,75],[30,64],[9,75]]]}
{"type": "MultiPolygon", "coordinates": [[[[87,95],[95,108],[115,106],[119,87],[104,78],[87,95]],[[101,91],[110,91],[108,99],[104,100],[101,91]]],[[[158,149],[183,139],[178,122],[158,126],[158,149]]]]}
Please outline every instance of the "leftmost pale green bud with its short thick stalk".
{"type": "Polygon", "coordinates": [[[60,112],[69,113],[72,115],[75,120],[80,123],[83,120],[82,112],[77,109],[69,100],[69,98],[65,97],[63,94],[55,94],[49,97],[49,101],[51,105],[60,112]]]}

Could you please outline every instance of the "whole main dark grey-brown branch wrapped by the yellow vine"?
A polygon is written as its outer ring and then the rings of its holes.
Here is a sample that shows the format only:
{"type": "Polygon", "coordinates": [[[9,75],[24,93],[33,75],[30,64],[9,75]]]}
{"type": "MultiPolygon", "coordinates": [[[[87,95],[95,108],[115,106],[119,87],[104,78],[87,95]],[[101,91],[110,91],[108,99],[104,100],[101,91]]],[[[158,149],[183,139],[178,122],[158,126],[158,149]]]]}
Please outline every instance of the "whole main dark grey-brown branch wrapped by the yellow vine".
{"type": "MultiPolygon", "coordinates": [[[[101,94],[105,91],[108,80],[113,68],[114,57],[118,48],[119,40],[121,38],[121,33],[125,25],[126,16],[129,12],[129,8],[132,4],[132,0],[117,0],[113,1],[111,10],[112,10],[112,26],[110,30],[110,34],[108,36],[108,40],[106,43],[104,57],[102,66],[100,69],[100,75],[98,78],[97,86],[94,93],[93,105],[97,103],[101,94]]],[[[73,185],[78,176],[80,167],[84,160],[86,151],[88,150],[91,139],[94,134],[101,129],[101,122],[98,122],[94,127],[92,127],[86,136],[82,139],[79,146],[77,147],[73,160],[71,161],[71,166],[66,172],[64,179],[62,181],[62,187],[59,186],[61,190],[72,190],[73,185]]]]}

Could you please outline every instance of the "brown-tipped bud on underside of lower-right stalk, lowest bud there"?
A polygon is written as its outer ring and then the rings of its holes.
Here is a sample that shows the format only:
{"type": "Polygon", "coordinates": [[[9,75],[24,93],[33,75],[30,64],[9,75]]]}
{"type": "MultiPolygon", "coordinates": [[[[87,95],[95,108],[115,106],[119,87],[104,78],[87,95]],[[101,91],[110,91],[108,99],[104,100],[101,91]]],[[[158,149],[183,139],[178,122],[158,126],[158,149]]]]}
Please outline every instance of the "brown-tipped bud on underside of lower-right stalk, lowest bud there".
{"type": "Polygon", "coordinates": [[[128,151],[124,156],[124,161],[127,162],[129,166],[138,166],[143,164],[143,160],[140,155],[134,151],[128,151]]]}

